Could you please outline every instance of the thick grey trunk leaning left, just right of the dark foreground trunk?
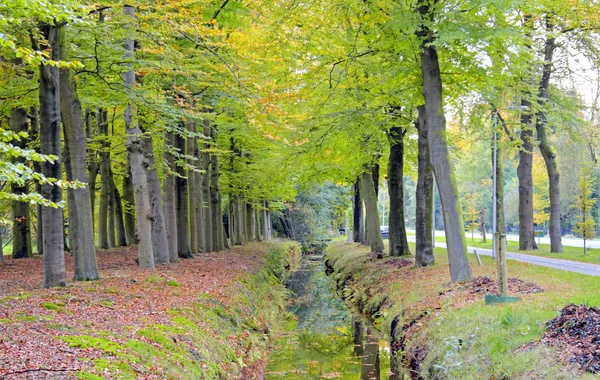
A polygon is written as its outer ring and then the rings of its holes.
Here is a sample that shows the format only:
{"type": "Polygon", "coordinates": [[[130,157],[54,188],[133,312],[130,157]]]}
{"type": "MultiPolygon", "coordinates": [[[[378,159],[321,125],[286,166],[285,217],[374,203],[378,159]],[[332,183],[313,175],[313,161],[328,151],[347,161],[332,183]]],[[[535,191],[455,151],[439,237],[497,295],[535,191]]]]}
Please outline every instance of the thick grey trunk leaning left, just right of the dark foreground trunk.
{"type": "MultiPolygon", "coordinates": [[[[67,41],[60,38],[61,56],[67,61],[67,41]]],[[[75,78],[69,69],[60,70],[60,108],[65,136],[65,167],[68,181],[85,183],[88,179],[86,168],[86,135],[83,124],[81,103],[77,96],[75,78]]],[[[96,248],[94,246],[94,223],[90,208],[89,186],[67,189],[69,202],[69,238],[73,252],[76,281],[97,280],[96,248]]]]}

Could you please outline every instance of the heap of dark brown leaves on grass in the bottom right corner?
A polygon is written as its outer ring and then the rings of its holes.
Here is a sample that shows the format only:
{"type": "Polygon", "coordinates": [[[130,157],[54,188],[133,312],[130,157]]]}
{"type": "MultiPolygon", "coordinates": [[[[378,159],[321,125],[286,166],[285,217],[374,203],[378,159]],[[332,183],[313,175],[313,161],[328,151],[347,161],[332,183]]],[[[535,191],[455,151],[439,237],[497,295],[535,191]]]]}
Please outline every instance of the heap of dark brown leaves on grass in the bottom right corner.
{"type": "Polygon", "coordinates": [[[542,342],[557,348],[564,361],[600,373],[600,309],[568,305],[546,323],[542,342]]]}

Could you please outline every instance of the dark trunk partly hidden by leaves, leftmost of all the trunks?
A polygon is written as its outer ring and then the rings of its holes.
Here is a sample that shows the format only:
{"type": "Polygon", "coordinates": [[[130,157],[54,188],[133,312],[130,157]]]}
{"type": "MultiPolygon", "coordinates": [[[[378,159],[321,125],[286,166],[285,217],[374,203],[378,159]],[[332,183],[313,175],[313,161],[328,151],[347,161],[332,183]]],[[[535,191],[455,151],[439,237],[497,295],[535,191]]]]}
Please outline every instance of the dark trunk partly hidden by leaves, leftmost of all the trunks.
{"type": "MultiPolygon", "coordinates": [[[[23,108],[14,108],[10,113],[10,129],[15,133],[27,132],[27,111],[23,108]]],[[[16,147],[25,149],[27,147],[27,139],[21,137],[20,140],[13,140],[12,144],[16,147]]],[[[16,158],[15,162],[25,163],[24,158],[16,158]]],[[[29,183],[25,182],[22,185],[12,183],[11,192],[15,195],[23,195],[29,193],[29,183]]],[[[31,215],[29,210],[29,202],[12,201],[12,216],[13,216],[13,259],[22,259],[32,256],[31,247],[31,215]]],[[[39,215],[38,215],[39,217],[39,215]]]]}

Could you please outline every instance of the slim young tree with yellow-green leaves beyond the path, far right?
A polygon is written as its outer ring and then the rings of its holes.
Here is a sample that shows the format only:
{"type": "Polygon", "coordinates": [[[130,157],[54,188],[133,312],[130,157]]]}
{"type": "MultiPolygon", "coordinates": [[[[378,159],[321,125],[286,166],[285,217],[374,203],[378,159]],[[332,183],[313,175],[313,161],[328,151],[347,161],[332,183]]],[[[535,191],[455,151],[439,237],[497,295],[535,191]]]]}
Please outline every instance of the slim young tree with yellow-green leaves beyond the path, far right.
{"type": "Polygon", "coordinates": [[[576,199],[576,207],[579,214],[575,223],[575,233],[583,239],[583,254],[586,254],[586,242],[596,236],[596,221],[592,217],[592,207],[597,199],[592,197],[594,191],[595,176],[591,165],[585,165],[579,173],[577,187],[579,195],[576,199]]]}

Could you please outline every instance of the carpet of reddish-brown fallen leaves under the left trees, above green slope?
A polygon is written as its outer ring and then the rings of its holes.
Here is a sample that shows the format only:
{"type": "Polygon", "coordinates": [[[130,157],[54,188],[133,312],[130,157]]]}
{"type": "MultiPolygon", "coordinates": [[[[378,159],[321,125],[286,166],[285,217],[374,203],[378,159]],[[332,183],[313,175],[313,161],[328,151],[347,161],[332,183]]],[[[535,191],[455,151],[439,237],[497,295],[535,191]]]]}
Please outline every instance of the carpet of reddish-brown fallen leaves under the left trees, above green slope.
{"type": "MultiPolygon", "coordinates": [[[[168,324],[169,309],[202,294],[227,305],[240,277],[257,270],[263,256],[258,244],[248,244],[149,270],[137,267],[136,250],[99,251],[102,279],[69,281],[65,288],[42,288],[39,257],[0,265],[0,379],[72,378],[92,365],[81,358],[106,354],[56,337],[109,331],[128,339],[146,326],[168,324]]],[[[65,261],[72,278],[73,256],[65,261]]]]}

